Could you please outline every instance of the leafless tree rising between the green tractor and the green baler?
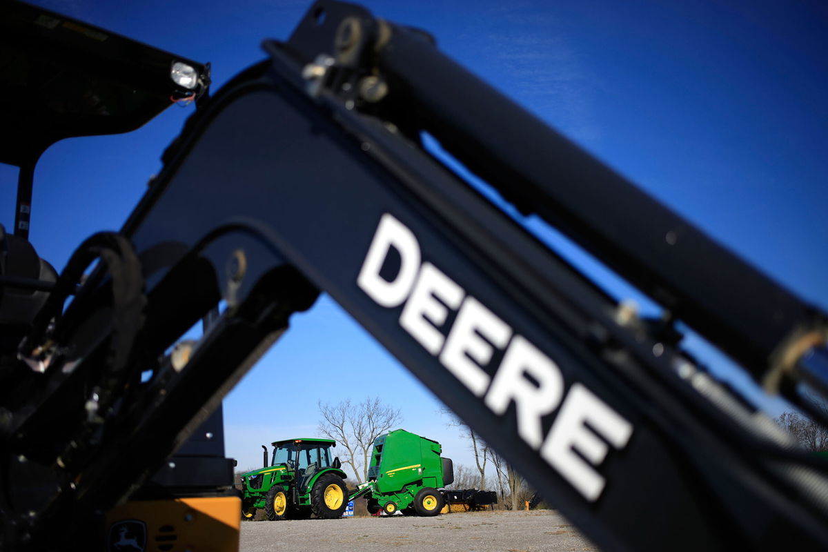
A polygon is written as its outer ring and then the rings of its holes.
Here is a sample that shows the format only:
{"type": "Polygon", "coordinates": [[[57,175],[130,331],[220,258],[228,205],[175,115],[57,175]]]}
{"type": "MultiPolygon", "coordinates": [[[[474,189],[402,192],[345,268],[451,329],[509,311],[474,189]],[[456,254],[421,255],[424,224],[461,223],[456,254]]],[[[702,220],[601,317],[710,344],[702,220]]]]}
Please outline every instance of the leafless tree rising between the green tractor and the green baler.
{"type": "Polygon", "coordinates": [[[402,412],[384,405],[379,397],[367,398],[359,405],[350,399],[335,405],[320,401],[318,405],[322,415],[319,432],[344,447],[347,456],[340,455],[339,460],[354,470],[357,483],[367,480],[374,439],[402,422],[402,412]]]}

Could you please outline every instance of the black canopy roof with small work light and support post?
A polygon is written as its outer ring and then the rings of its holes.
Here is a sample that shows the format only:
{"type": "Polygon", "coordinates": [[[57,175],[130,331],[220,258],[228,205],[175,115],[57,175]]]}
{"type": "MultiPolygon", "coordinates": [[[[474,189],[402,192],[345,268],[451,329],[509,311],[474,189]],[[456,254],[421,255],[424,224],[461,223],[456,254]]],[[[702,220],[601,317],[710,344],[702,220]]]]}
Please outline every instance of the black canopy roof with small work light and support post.
{"type": "Polygon", "coordinates": [[[130,132],[173,98],[202,97],[209,87],[209,64],[17,0],[0,5],[0,51],[0,162],[20,167],[12,233],[26,239],[35,165],[47,147],[67,137],[130,132]],[[196,89],[172,82],[175,61],[198,72],[196,89]],[[76,90],[56,89],[60,83],[76,90]]]}

